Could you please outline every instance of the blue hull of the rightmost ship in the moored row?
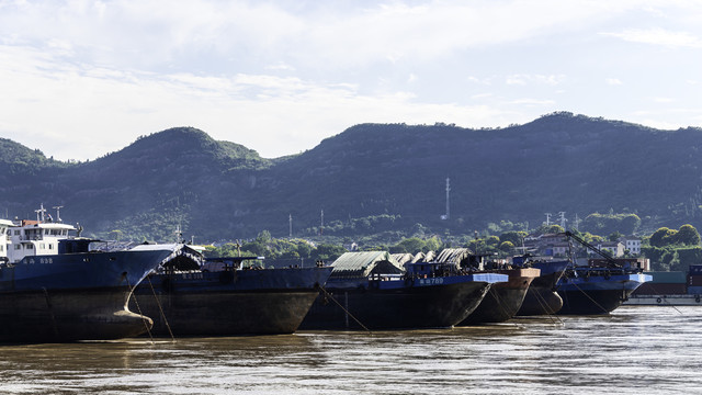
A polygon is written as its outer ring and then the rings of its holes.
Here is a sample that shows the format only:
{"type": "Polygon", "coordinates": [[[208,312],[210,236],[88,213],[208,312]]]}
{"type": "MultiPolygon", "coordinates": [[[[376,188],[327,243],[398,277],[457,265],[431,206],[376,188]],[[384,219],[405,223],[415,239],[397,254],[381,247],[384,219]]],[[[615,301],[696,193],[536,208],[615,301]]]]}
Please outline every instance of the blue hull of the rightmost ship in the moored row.
{"type": "Polygon", "coordinates": [[[629,300],[632,292],[649,279],[650,275],[645,274],[563,278],[557,289],[558,295],[563,298],[563,307],[557,314],[609,314],[629,300]]]}

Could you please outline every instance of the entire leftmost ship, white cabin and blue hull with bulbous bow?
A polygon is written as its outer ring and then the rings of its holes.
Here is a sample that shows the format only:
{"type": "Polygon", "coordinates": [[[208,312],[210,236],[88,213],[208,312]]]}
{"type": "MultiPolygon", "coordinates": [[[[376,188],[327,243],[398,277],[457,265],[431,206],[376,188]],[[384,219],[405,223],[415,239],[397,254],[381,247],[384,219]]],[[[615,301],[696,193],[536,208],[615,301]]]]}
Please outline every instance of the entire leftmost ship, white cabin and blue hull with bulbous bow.
{"type": "Polygon", "coordinates": [[[0,342],[133,337],[150,326],[127,308],[133,289],[178,245],[104,250],[104,242],[46,216],[0,221],[0,342]],[[76,232],[78,235],[72,235],[76,232]],[[98,246],[98,248],[93,248],[98,246]]]}

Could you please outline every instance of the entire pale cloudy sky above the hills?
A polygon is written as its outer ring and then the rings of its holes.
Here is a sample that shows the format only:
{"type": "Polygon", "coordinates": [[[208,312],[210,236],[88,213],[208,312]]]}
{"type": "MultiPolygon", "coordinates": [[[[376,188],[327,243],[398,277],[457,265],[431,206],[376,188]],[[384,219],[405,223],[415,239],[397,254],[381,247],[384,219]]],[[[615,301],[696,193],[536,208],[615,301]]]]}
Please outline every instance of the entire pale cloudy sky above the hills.
{"type": "Polygon", "coordinates": [[[0,137],[59,160],[176,126],[276,158],[556,111],[702,126],[702,2],[0,0],[0,137]]]}

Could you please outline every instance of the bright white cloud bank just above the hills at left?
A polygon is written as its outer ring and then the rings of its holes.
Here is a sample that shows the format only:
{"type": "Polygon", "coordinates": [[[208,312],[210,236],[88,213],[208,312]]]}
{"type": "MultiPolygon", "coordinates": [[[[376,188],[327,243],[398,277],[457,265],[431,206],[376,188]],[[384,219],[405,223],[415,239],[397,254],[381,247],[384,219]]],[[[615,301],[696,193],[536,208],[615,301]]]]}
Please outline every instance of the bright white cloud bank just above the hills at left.
{"type": "Polygon", "coordinates": [[[486,106],[415,103],[409,92],[361,95],[353,84],[292,77],[156,75],[67,64],[56,70],[45,54],[18,50],[0,46],[0,53],[13,53],[22,63],[0,64],[0,84],[8,93],[0,97],[0,108],[16,109],[2,119],[0,132],[59,159],[95,158],[139,135],[181,125],[278,157],[309,149],[361,122],[484,126],[499,114],[486,106]]]}

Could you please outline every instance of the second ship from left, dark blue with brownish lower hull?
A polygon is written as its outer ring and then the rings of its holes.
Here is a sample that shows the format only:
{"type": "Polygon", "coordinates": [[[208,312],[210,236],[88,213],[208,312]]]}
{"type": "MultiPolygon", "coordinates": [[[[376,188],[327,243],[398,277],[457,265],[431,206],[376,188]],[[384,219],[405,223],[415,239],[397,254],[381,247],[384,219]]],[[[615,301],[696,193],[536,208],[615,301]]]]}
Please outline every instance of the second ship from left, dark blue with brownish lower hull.
{"type": "Polygon", "coordinates": [[[135,291],[156,336],[279,335],[297,330],[330,267],[264,269],[262,257],[210,258],[186,247],[135,291]]]}

